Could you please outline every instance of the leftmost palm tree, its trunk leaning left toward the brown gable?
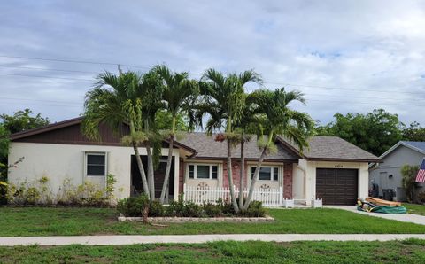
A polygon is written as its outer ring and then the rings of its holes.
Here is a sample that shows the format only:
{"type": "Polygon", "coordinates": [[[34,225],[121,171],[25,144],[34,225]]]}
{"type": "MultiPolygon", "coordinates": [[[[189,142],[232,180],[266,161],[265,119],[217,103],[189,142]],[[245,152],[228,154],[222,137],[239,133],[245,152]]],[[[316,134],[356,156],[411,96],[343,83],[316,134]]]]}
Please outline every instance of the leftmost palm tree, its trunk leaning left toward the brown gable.
{"type": "Polygon", "coordinates": [[[141,131],[142,103],[137,96],[140,81],[141,76],[133,72],[123,73],[120,76],[109,72],[99,74],[94,89],[86,94],[82,132],[90,139],[101,140],[99,131],[101,124],[112,128],[117,134],[122,132],[120,128],[123,123],[128,124],[130,134],[123,136],[122,141],[133,146],[143,190],[149,198],[149,187],[138,151],[139,144],[146,140],[141,131]]]}

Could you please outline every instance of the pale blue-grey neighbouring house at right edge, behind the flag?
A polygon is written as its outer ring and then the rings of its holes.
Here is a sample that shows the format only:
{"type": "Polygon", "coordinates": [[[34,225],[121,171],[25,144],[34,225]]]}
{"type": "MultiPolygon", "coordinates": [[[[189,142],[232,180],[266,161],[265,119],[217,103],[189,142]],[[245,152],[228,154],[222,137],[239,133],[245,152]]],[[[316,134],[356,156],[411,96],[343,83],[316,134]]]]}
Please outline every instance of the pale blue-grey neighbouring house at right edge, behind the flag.
{"type": "MultiPolygon", "coordinates": [[[[425,142],[400,141],[379,158],[383,159],[383,163],[373,163],[369,167],[370,181],[378,184],[380,196],[383,196],[383,190],[392,189],[396,191],[398,201],[406,201],[400,169],[405,164],[421,165],[425,158],[425,142]]],[[[423,186],[418,184],[419,188],[423,186]]]]}

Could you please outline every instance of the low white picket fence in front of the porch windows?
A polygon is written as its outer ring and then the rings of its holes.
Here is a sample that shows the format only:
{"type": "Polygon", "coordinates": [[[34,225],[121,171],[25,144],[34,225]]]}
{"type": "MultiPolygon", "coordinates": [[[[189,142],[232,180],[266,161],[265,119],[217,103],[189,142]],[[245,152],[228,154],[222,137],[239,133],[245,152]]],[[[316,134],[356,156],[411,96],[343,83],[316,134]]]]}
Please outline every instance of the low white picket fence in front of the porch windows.
{"type": "MultiPolygon", "coordinates": [[[[236,198],[239,197],[239,189],[233,187],[236,193],[236,198]]],[[[243,197],[248,196],[248,189],[243,190],[243,197]]],[[[199,187],[183,185],[183,199],[192,201],[195,204],[216,203],[221,199],[225,202],[230,202],[230,189],[228,187],[199,187]]],[[[265,207],[280,207],[283,206],[282,187],[279,189],[254,189],[252,200],[260,201],[265,207]]]]}

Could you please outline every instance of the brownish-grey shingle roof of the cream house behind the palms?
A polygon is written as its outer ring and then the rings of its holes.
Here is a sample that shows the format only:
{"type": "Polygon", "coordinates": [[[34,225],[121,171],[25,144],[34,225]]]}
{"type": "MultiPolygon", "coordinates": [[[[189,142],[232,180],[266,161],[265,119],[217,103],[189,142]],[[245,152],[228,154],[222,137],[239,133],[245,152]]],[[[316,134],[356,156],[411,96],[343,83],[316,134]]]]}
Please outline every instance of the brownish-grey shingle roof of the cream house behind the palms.
{"type": "MultiPolygon", "coordinates": [[[[29,129],[11,136],[12,141],[22,138],[48,133],[60,128],[68,128],[80,124],[82,118],[66,120],[55,124],[48,125],[43,128],[29,129]]],[[[227,144],[226,142],[217,142],[215,136],[206,136],[204,132],[193,132],[184,134],[183,138],[178,139],[176,146],[195,152],[193,159],[226,159],[227,144]]],[[[298,149],[288,141],[279,138],[277,144],[277,152],[271,153],[266,160],[293,160],[301,158],[298,149]]],[[[117,141],[117,143],[119,143],[117,141]]],[[[305,159],[311,160],[341,160],[341,161],[364,161],[377,162],[381,161],[375,155],[360,149],[359,147],[346,142],[337,136],[313,136],[310,141],[310,148],[303,152],[305,159]]],[[[87,143],[86,143],[87,144],[87,143]]],[[[94,144],[94,143],[92,143],[94,144]]],[[[245,144],[246,159],[259,159],[261,151],[257,146],[256,136],[252,136],[251,141],[245,144]]],[[[240,146],[232,151],[232,156],[240,157],[240,146]]]]}

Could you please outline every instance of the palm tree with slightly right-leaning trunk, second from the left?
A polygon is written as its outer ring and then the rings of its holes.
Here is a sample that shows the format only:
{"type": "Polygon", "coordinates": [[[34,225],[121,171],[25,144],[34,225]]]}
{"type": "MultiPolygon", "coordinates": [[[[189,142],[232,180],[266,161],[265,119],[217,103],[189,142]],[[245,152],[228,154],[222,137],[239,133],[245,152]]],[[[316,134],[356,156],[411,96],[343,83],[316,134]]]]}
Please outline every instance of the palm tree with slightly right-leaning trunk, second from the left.
{"type": "Polygon", "coordinates": [[[189,111],[190,103],[197,97],[198,85],[196,81],[188,79],[188,73],[173,73],[166,66],[155,66],[154,70],[162,79],[164,85],[163,101],[166,111],[171,114],[172,118],[171,131],[167,131],[168,157],[166,159],[166,175],[164,176],[164,184],[162,185],[159,199],[164,204],[173,159],[176,120],[179,114],[189,111]]]}

